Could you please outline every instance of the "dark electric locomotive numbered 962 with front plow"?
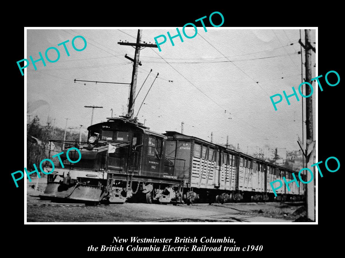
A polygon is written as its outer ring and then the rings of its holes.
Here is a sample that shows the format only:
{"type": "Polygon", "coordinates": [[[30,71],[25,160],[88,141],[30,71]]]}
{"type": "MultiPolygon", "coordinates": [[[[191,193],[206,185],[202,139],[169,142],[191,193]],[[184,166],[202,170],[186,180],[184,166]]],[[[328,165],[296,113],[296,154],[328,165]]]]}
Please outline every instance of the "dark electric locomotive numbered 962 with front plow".
{"type": "MultiPolygon", "coordinates": [[[[74,145],[81,153],[78,163],[69,162],[66,153],[60,156],[62,164],[48,175],[40,196],[90,203],[183,203],[185,179],[171,174],[178,158],[166,157],[167,137],[128,116],[107,119],[88,127],[88,142],[74,145]]],[[[71,155],[79,158],[77,151],[71,155]]]]}

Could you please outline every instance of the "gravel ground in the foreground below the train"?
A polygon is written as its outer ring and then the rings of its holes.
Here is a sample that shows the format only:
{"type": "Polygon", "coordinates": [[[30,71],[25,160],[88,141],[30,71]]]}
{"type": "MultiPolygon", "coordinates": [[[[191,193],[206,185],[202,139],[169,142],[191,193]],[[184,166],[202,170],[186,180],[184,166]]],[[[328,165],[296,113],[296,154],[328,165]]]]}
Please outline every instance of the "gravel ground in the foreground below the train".
{"type": "MultiPolygon", "coordinates": [[[[37,192],[36,192],[37,193],[37,192]]],[[[28,194],[28,199],[34,199],[28,194]]],[[[124,203],[98,206],[28,205],[28,222],[291,222],[300,206],[279,203],[162,205],[124,203]],[[287,214],[287,216],[284,216],[287,214]]]]}

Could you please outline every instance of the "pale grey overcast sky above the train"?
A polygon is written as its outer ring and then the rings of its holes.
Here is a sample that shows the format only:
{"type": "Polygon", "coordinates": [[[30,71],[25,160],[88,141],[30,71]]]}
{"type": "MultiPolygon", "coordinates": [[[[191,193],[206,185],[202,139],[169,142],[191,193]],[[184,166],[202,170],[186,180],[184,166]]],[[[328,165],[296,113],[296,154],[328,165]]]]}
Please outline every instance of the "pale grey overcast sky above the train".
{"type": "MultiPolygon", "coordinates": [[[[167,36],[167,31],[176,34],[174,28],[144,29],[141,41],[152,43],[160,34],[167,36]]],[[[304,30],[301,32],[304,42],[304,30]]],[[[291,97],[288,106],[284,99],[275,111],[269,96],[283,95],[283,90],[292,94],[293,86],[298,90],[301,83],[301,55],[297,53],[300,51],[299,30],[207,28],[205,32],[201,27],[198,33],[193,39],[183,36],[184,42],[175,38],[175,46],[167,39],[161,45],[161,52],[149,47],[140,51],[142,66],[139,66],[137,92],[150,69],[152,72],[136,99],[135,115],[157,73],[159,76],[141,107],[139,121],[146,119],[146,126],[160,133],[180,132],[181,121],[184,121],[186,135],[210,140],[213,132],[217,143],[226,143],[228,135],[229,142],[235,146],[239,143],[241,149],[268,143],[271,147],[298,150],[297,135],[302,139],[302,101],[297,102],[291,97]]],[[[194,31],[189,30],[187,34],[193,35],[194,31]]],[[[56,126],[62,128],[65,128],[66,118],[69,118],[68,127],[90,126],[91,108],[85,108],[86,105],[103,106],[95,109],[93,123],[106,121],[111,116],[111,108],[114,109],[113,116],[122,115],[122,106],[125,112],[127,110],[128,85],[84,85],[73,80],[130,83],[132,64],[124,55],[133,58],[135,50],[117,42],[135,42],[136,36],[137,30],[124,29],[27,30],[26,58],[32,55],[37,60],[38,52],[44,56],[51,46],[60,50],[60,59],[56,63],[46,61],[44,67],[38,62],[37,71],[32,64],[25,70],[28,115],[37,114],[41,122],[46,122],[49,114],[50,118],[56,118],[56,126]],[[77,35],[87,41],[86,49],[80,52],[71,45],[77,35]],[[70,41],[66,44],[70,56],[62,46],[57,46],[66,40],[70,41]],[[38,100],[46,101],[48,105],[30,108],[38,100]]],[[[312,45],[316,46],[315,30],[311,32],[311,39],[312,45]]],[[[77,48],[82,48],[81,39],[75,42],[77,48]]],[[[50,50],[49,57],[55,60],[56,53],[50,50]]],[[[302,58],[304,62],[304,51],[302,58]]],[[[315,67],[312,67],[312,76],[316,76],[315,67]]],[[[313,86],[315,88],[315,83],[313,86]]],[[[313,106],[315,128],[315,90],[313,106]]]]}

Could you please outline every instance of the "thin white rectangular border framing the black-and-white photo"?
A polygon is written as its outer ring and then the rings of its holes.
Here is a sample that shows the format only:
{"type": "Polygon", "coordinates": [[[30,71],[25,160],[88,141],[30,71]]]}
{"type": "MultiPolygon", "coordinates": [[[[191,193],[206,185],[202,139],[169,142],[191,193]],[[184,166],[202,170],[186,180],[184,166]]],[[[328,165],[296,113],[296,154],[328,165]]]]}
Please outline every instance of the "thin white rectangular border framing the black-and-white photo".
{"type": "MultiPolygon", "coordinates": [[[[198,29],[203,29],[203,27],[197,27],[198,29]]],[[[307,27],[307,28],[301,28],[301,27],[206,27],[207,30],[267,30],[267,29],[276,29],[276,30],[283,30],[283,29],[311,29],[315,30],[315,40],[316,40],[316,55],[315,55],[315,61],[316,61],[316,68],[315,68],[315,77],[318,76],[318,27],[307,27]]],[[[43,29],[53,29],[53,30],[58,30],[58,29],[75,29],[75,30],[115,30],[115,29],[126,29],[126,30],[137,30],[137,29],[145,29],[145,30],[156,30],[156,29],[176,29],[176,27],[24,27],[24,58],[27,59],[27,30],[43,30],[43,29]]],[[[302,53],[301,53],[302,55],[302,53]]],[[[317,82],[315,82],[317,84],[317,82]]],[[[317,87],[315,87],[317,89],[317,87]]],[[[316,95],[316,111],[315,111],[315,116],[316,116],[316,161],[318,160],[318,90],[315,90],[315,95],[316,95]]],[[[26,126],[27,126],[27,73],[24,73],[24,168],[26,168],[26,157],[27,157],[27,131],[26,131],[26,126]]],[[[315,221],[316,222],[27,222],[27,180],[26,177],[24,177],[24,224],[197,224],[202,225],[204,224],[288,224],[288,225],[299,225],[299,224],[318,224],[318,176],[316,176],[317,173],[314,173],[315,175],[315,180],[316,180],[316,206],[315,206],[315,221]]],[[[18,189],[18,191],[20,191],[18,189]]]]}

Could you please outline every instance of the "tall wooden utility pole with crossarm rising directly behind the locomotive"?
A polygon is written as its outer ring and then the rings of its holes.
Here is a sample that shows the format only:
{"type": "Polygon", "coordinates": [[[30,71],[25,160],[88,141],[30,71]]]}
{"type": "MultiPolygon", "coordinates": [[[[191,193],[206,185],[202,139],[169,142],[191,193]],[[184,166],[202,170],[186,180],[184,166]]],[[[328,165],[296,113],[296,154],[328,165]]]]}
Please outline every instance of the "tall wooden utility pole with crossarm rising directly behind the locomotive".
{"type": "Polygon", "coordinates": [[[130,93],[129,93],[129,101],[128,101],[128,111],[127,111],[127,117],[132,118],[134,113],[134,99],[135,99],[135,90],[137,87],[137,77],[138,77],[138,65],[139,65],[139,54],[140,54],[140,48],[141,47],[157,47],[155,44],[146,44],[140,43],[141,42],[141,33],[142,30],[138,30],[137,35],[137,42],[136,43],[129,43],[129,42],[117,42],[117,44],[120,45],[126,45],[126,46],[135,46],[135,53],[134,53],[134,59],[130,58],[129,56],[125,56],[127,59],[131,60],[133,62],[133,72],[132,72],[132,81],[130,84],[130,93]]]}

